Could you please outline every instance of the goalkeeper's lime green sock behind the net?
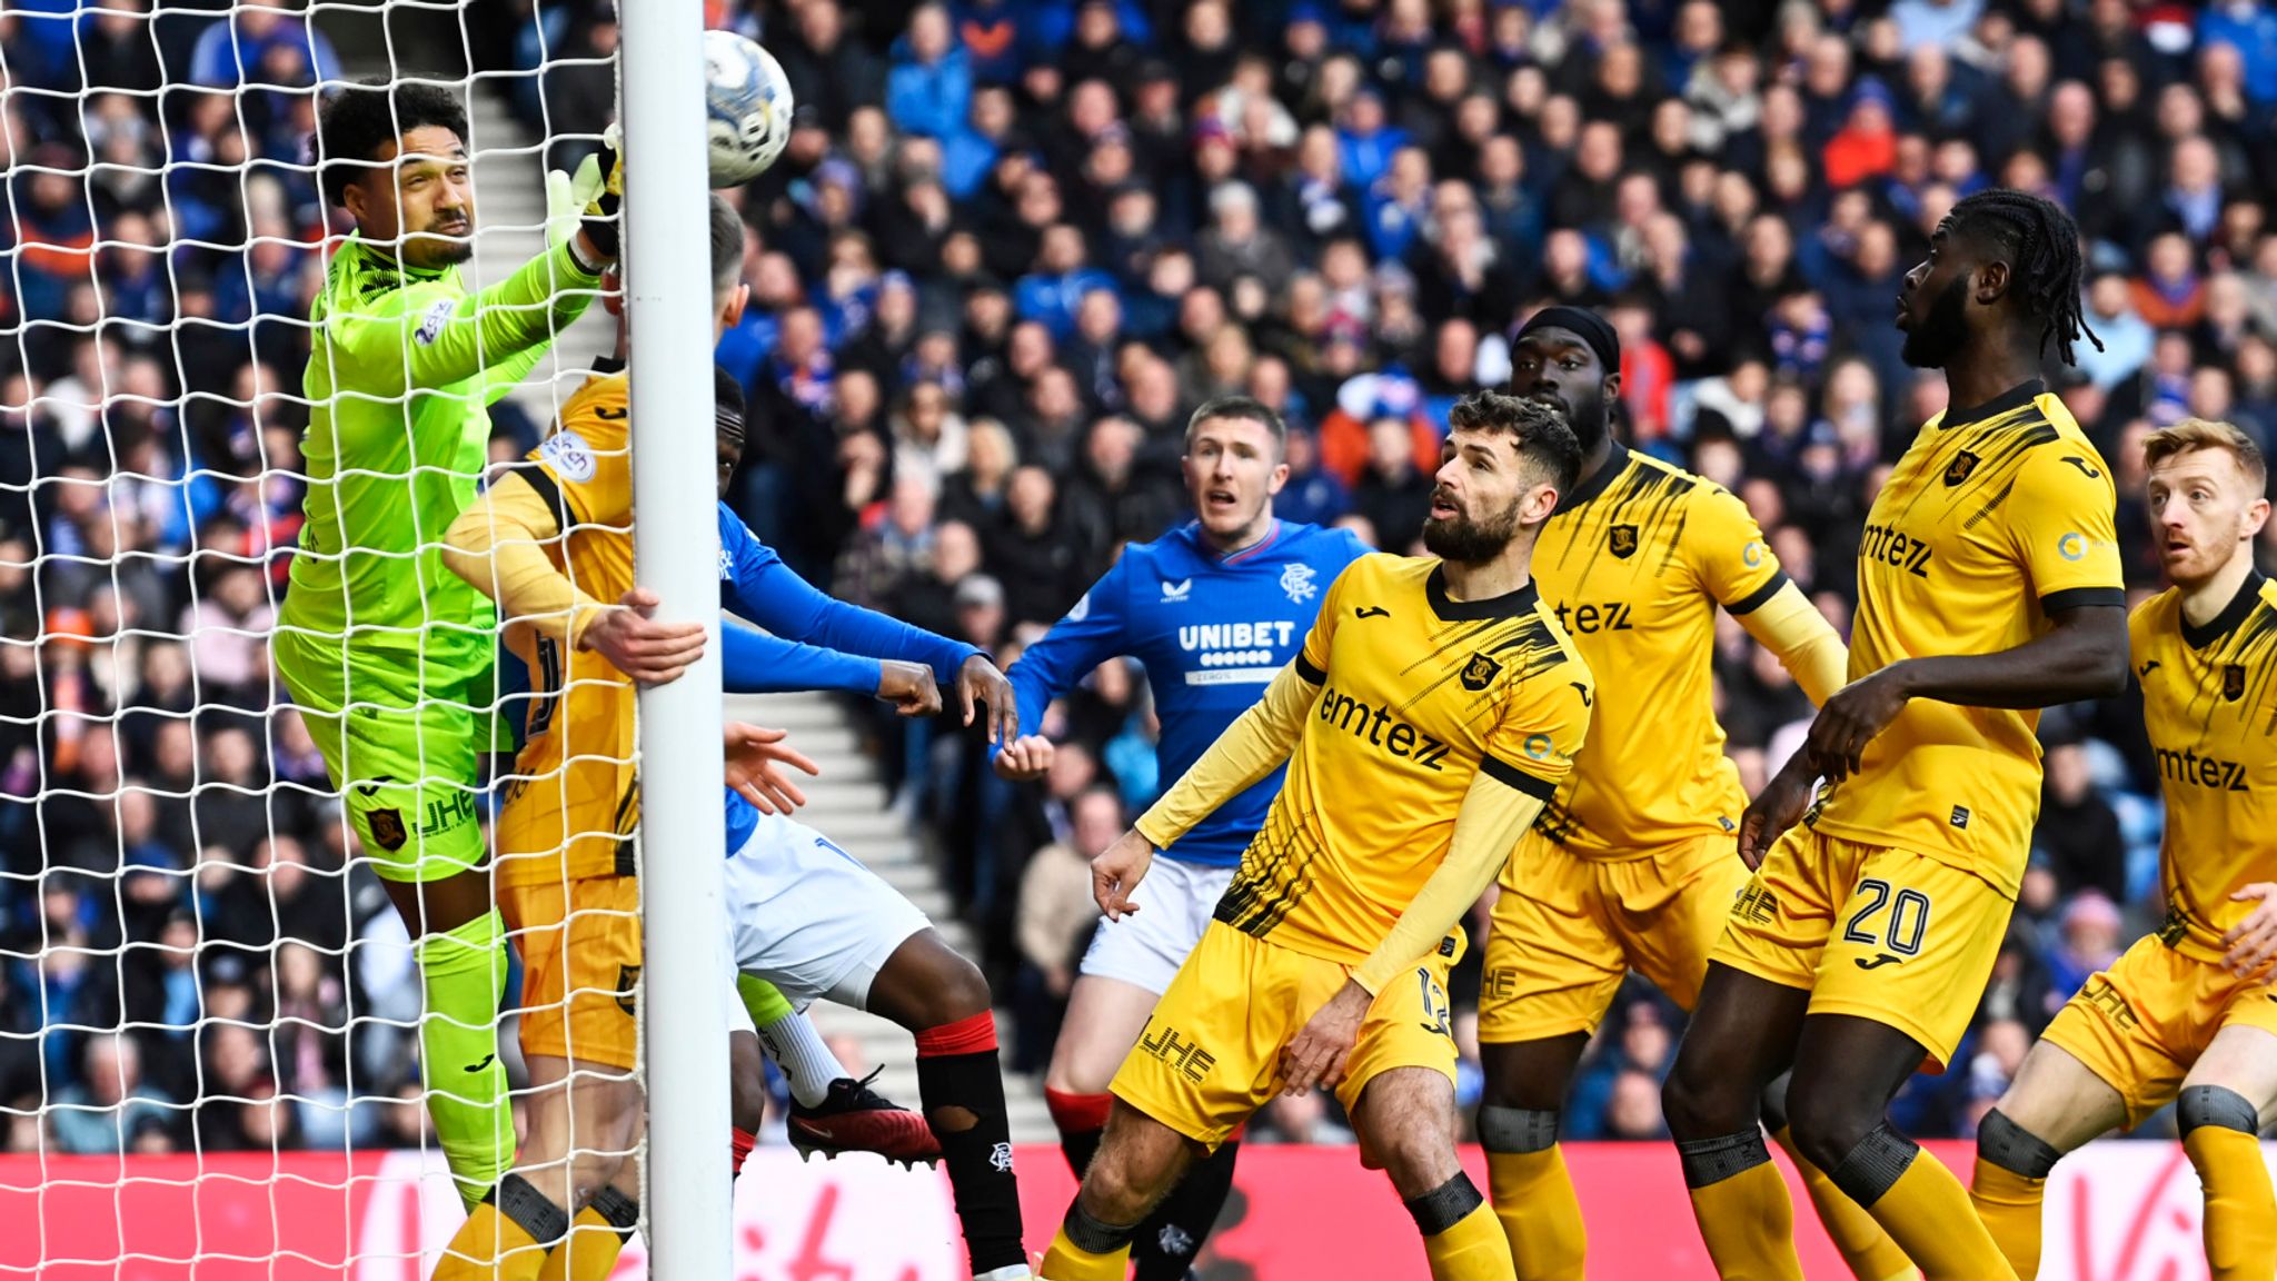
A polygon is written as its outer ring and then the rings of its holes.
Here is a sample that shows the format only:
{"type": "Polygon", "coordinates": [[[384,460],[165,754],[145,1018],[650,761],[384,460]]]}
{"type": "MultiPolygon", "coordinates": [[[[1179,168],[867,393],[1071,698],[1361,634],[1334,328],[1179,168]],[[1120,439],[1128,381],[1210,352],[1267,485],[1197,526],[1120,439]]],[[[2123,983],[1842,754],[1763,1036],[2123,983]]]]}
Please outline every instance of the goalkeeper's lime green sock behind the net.
{"type": "Polygon", "coordinates": [[[496,912],[419,939],[426,1017],[419,1062],[435,1137],[471,1210],[515,1162],[515,1115],[499,1062],[499,996],[505,989],[505,925],[496,912]]]}

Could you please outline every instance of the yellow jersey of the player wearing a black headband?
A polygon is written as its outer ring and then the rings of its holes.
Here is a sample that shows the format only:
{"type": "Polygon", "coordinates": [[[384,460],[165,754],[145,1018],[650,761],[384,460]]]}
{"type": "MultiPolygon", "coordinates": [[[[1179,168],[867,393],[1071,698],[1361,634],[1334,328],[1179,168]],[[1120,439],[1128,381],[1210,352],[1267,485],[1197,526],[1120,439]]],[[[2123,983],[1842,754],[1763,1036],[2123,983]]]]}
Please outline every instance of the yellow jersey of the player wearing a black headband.
{"type": "Polygon", "coordinates": [[[1787,584],[1731,490],[1614,447],[1535,545],[1535,584],[1592,672],[1589,743],[1535,830],[1580,857],[1737,832],[1746,791],[1715,718],[1715,609],[1787,584]]]}

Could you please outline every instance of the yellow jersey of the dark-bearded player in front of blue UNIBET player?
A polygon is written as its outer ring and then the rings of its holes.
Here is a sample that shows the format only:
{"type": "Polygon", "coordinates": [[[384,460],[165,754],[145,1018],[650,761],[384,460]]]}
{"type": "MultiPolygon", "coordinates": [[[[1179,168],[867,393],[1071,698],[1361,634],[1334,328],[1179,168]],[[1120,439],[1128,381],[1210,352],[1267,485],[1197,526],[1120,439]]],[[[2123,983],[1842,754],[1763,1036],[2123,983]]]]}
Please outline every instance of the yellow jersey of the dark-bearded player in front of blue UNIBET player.
{"type": "Polygon", "coordinates": [[[1341,964],[1446,862],[1480,773],[1555,793],[1596,695],[1532,584],[1455,602],[1439,561],[1384,554],[1337,577],[1296,670],[1318,695],[1216,919],[1341,964]]]}

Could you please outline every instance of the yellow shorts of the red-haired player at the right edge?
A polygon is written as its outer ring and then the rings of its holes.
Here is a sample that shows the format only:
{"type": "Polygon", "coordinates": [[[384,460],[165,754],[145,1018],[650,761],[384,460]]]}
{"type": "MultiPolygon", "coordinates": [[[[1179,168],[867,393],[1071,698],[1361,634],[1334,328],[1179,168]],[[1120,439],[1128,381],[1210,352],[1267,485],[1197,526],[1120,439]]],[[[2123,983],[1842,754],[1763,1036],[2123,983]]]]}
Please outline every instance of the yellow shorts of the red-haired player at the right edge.
{"type": "Polygon", "coordinates": [[[2231,1026],[2277,1035],[2277,985],[2147,937],[2088,978],[2042,1035],[2120,1092],[2131,1131],[2175,1101],[2197,1055],[2231,1026]]]}

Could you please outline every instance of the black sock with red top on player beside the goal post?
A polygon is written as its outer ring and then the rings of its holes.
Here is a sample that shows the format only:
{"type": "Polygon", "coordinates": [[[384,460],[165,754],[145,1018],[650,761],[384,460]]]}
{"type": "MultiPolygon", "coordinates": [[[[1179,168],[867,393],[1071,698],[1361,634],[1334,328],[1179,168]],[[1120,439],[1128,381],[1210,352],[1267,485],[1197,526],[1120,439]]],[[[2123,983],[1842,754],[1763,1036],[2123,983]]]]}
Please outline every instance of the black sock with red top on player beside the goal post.
{"type": "Polygon", "coordinates": [[[950,1169],[950,1192],[956,1197],[956,1219],[965,1229],[975,1274],[1027,1263],[1004,1074],[997,1067],[995,1023],[986,1019],[988,1014],[977,1014],[918,1033],[918,1101],[940,1140],[940,1162],[950,1169]],[[963,1128],[950,1128],[968,1119],[963,1128]]]}

